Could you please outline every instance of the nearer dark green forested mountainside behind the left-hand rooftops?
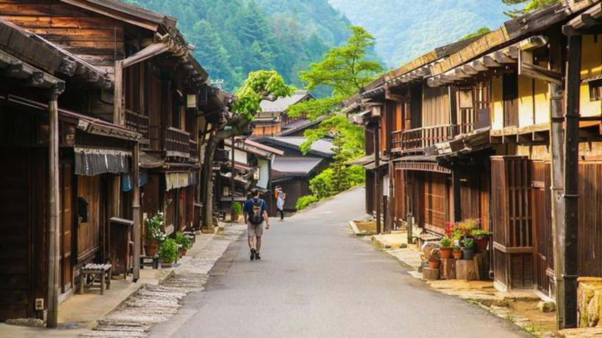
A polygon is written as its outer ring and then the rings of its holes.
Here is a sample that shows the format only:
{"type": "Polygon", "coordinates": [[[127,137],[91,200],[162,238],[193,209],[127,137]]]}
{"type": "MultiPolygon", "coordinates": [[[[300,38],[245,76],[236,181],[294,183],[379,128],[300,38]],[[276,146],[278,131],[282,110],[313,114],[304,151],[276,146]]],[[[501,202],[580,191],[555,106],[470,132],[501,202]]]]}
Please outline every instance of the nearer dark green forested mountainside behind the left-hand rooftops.
{"type": "Polygon", "coordinates": [[[299,70],[350,35],[350,22],[327,0],[126,1],[178,18],[202,66],[228,90],[259,69],[302,87],[299,70]]]}

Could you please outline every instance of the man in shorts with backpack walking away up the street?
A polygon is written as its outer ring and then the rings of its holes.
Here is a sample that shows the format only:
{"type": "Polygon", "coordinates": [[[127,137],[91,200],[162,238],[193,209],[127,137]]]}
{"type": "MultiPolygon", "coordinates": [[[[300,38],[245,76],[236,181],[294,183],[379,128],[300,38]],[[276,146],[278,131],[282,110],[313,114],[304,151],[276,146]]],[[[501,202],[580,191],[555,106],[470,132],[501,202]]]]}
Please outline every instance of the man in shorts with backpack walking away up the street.
{"type": "Polygon", "coordinates": [[[259,190],[251,191],[252,198],[244,202],[243,212],[247,220],[247,236],[249,236],[249,248],[251,250],[251,260],[261,259],[259,249],[261,249],[261,235],[263,235],[263,223],[265,229],[270,229],[270,221],[267,216],[267,204],[259,198],[259,190]],[[255,244],[253,244],[255,239],[255,244]]]}

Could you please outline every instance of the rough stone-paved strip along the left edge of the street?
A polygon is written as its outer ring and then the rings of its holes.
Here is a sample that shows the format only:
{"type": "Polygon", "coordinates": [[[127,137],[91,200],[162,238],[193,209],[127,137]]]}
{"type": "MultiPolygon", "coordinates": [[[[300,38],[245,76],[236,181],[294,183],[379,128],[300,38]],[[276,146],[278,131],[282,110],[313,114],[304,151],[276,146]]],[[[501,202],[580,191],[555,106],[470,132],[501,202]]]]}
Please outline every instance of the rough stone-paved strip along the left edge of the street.
{"type": "Polygon", "coordinates": [[[201,291],[209,271],[228,245],[244,232],[232,226],[215,235],[200,252],[158,286],[145,284],[119,308],[100,319],[80,337],[147,337],[151,328],[178,312],[180,300],[189,292],[201,291]]]}

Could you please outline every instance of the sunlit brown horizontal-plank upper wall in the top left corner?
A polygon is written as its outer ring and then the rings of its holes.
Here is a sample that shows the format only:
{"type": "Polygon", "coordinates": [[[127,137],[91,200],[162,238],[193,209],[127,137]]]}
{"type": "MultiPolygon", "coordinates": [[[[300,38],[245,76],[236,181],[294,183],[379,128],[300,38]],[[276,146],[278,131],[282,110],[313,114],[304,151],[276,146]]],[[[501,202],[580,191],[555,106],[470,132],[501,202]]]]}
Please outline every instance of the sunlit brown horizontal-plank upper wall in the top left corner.
{"type": "Polygon", "coordinates": [[[0,16],[114,73],[123,58],[123,23],[57,0],[0,0],[0,16]]]}

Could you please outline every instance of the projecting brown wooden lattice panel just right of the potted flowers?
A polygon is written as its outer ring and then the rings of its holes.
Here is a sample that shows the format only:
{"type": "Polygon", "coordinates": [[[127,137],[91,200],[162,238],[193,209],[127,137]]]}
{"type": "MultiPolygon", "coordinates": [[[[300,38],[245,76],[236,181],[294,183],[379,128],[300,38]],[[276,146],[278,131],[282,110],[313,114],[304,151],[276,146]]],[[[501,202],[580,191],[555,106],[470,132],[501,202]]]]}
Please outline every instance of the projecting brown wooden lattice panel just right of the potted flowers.
{"type": "Polygon", "coordinates": [[[491,158],[494,283],[501,290],[533,286],[530,169],[522,156],[491,158]]]}

